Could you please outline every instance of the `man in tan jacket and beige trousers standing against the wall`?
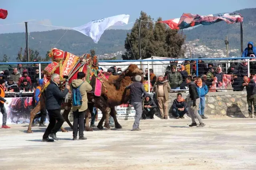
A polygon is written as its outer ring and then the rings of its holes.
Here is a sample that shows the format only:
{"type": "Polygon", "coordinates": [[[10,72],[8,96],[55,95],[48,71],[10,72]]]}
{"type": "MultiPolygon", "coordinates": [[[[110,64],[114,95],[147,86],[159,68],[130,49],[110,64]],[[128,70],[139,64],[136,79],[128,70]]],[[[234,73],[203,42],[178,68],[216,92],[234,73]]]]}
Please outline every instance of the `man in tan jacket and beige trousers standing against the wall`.
{"type": "Polygon", "coordinates": [[[171,87],[168,81],[163,81],[163,76],[159,76],[153,87],[155,97],[157,98],[158,107],[160,109],[161,119],[168,119],[168,100],[171,87]]]}

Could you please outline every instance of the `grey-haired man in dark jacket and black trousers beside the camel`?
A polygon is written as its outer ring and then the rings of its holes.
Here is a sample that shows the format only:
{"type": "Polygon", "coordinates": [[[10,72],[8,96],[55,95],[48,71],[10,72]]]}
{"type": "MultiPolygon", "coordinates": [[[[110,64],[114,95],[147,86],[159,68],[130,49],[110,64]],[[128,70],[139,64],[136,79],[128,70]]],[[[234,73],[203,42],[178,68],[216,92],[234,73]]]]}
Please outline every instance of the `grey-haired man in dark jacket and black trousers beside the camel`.
{"type": "Polygon", "coordinates": [[[62,92],[58,87],[58,84],[60,84],[60,75],[54,73],[52,74],[50,84],[45,91],[45,105],[49,115],[49,125],[44,132],[42,139],[43,142],[53,142],[54,140],[58,140],[56,132],[60,130],[60,127],[65,121],[60,114],[60,105],[61,101],[68,94],[70,87],[67,85],[66,89],[62,92]],[[54,140],[49,139],[48,136],[54,140]]]}

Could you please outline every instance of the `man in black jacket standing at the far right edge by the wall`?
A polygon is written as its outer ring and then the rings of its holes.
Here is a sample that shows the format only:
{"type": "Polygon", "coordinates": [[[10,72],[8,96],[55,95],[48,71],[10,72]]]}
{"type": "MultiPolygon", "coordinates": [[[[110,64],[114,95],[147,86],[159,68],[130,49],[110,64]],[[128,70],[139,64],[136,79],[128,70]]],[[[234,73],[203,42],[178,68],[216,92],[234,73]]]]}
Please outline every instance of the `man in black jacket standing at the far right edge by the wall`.
{"type": "Polygon", "coordinates": [[[247,92],[247,103],[249,117],[252,118],[252,105],[254,106],[254,118],[256,117],[256,84],[253,79],[249,81],[247,76],[244,76],[244,83],[242,86],[246,88],[247,92]]]}

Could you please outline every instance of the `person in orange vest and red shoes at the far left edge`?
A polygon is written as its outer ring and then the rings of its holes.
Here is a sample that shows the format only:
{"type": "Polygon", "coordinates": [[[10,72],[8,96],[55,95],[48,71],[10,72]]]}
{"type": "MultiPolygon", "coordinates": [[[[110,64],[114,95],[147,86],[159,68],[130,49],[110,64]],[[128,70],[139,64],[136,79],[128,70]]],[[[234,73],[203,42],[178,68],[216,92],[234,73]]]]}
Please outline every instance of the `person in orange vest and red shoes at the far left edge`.
{"type": "Polygon", "coordinates": [[[0,112],[3,114],[2,128],[10,128],[6,125],[7,113],[4,107],[4,103],[8,105],[8,101],[4,99],[4,96],[5,96],[4,88],[5,88],[5,81],[3,79],[0,79],[0,112]]]}

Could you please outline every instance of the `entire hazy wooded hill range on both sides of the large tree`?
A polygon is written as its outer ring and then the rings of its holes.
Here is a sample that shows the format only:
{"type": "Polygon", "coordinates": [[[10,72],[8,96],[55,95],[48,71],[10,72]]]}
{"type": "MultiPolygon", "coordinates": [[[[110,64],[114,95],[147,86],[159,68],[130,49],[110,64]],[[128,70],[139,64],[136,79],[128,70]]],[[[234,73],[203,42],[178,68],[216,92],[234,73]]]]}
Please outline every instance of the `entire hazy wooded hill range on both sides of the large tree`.
{"type": "MultiPolygon", "coordinates": [[[[256,8],[235,11],[244,17],[244,48],[249,41],[256,37],[256,8]]],[[[54,47],[67,30],[52,30],[47,32],[30,32],[29,47],[38,50],[44,57],[46,51],[54,47]]],[[[126,30],[131,32],[131,30],[126,30]]],[[[93,40],[80,32],[68,30],[55,46],[76,55],[89,53],[95,49],[96,55],[124,51],[126,38],[125,30],[106,30],[96,44],[93,40]]],[[[198,26],[191,30],[184,30],[186,44],[191,47],[193,57],[225,57],[226,45],[224,40],[228,36],[230,56],[240,56],[240,23],[226,24],[218,22],[210,26],[198,26]]],[[[26,47],[24,33],[0,34],[0,57],[4,54],[10,61],[16,61],[20,47],[26,47]]],[[[187,48],[186,57],[189,56],[187,48]]]]}

